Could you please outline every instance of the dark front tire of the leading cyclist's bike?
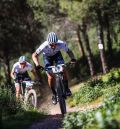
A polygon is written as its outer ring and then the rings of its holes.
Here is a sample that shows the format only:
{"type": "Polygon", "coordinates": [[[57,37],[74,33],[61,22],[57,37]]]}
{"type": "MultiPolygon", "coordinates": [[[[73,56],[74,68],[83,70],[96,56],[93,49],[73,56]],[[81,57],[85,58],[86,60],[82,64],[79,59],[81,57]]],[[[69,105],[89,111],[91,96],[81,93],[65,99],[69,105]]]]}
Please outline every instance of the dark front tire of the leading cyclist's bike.
{"type": "Polygon", "coordinates": [[[61,113],[64,115],[67,111],[66,111],[65,96],[63,93],[64,85],[60,78],[56,79],[56,86],[57,86],[57,95],[58,95],[58,99],[59,99],[60,110],[61,110],[61,113]]]}

